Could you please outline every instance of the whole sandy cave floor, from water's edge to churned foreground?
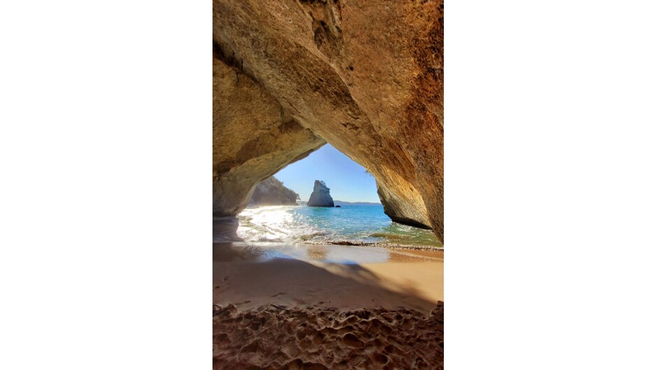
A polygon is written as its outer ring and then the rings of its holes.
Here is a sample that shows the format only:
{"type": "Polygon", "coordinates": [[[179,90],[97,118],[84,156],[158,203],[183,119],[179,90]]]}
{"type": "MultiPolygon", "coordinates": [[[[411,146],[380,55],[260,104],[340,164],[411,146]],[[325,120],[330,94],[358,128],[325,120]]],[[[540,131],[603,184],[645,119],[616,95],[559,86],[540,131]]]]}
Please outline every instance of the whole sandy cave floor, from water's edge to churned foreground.
{"type": "Polygon", "coordinates": [[[213,367],[442,369],[442,252],[363,248],[213,244],[213,367]]]}

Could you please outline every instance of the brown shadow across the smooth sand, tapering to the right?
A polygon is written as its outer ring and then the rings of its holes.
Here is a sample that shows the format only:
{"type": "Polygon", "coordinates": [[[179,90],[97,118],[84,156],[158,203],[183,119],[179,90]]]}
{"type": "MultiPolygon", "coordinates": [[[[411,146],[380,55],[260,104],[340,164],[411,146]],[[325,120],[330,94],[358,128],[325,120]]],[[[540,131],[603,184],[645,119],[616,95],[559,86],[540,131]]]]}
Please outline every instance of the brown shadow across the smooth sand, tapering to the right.
{"type": "Polygon", "coordinates": [[[428,313],[436,302],[410,284],[383,282],[356,264],[261,260],[244,243],[212,244],[212,301],[239,309],[259,306],[326,306],[349,309],[415,309],[428,313]]]}

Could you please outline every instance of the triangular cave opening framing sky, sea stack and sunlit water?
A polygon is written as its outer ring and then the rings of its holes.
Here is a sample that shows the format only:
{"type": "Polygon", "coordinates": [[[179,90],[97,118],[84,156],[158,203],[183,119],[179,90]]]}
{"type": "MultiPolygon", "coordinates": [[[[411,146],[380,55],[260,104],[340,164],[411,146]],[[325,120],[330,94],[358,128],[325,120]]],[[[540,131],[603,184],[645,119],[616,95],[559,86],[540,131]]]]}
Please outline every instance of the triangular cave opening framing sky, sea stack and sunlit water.
{"type": "Polygon", "coordinates": [[[431,230],[392,221],[373,175],[330,144],[259,182],[236,219],[249,242],[442,245],[431,230]]]}

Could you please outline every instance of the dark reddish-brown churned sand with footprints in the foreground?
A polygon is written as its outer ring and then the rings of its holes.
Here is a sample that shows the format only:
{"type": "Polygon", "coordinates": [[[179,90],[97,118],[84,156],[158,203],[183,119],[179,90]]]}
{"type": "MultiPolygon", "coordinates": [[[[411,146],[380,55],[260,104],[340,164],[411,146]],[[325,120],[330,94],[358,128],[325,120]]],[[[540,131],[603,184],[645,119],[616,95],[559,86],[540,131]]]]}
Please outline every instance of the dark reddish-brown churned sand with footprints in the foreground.
{"type": "Polygon", "coordinates": [[[443,305],[212,309],[214,369],[442,369],[443,305]]]}

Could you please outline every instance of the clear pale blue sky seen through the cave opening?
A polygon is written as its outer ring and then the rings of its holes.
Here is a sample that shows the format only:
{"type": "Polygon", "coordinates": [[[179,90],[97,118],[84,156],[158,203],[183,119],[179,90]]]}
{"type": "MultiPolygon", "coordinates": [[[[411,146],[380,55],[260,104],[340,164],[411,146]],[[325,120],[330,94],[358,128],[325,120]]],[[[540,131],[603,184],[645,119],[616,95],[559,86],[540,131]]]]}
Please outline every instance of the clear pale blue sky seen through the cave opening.
{"type": "Polygon", "coordinates": [[[330,144],[324,145],[301,161],[292,163],[274,175],[285,186],[308,201],[315,180],[326,182],[333,200],[380,202],[374,177],[330,144]]]}

